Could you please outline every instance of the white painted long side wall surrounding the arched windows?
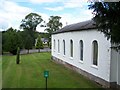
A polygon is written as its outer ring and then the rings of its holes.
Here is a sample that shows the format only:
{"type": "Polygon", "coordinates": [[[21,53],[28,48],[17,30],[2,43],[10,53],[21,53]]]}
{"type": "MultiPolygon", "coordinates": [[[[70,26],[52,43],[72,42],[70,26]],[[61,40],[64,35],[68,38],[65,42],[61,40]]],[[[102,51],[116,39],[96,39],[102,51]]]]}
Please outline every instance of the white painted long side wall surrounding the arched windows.
{"type": "Polygon", "coordinates": [[[110,42],[97,30],[84,30],[66,32],[52,35],[52,56],[55,56],[69,64],[72,64],[84,71],[87,71],[106,81],[110,81],[110,42]],[[53,48],[55,39],[56,49],[53,48]],[[60,53],[58,53],[58,39],[60,40],[60,53]],[[70,40],[73,40],[73,58],[70,57],[70,40]],[[63,55],[63,40],[65,40],[66,55],[63,55]],[[83,40],[83,62],[79,60],[79,41],[83,40]],[[98,66],[92,65],[92,42],[98,42],[98,66]]]}

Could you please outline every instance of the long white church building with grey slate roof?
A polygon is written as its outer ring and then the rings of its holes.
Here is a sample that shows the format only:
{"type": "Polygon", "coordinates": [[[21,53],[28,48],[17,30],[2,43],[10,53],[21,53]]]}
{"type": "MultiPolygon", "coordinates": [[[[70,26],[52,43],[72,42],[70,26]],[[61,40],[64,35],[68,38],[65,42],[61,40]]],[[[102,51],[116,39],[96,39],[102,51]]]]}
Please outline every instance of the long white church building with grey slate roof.
{"type": "Polygon", "coordinates": [[[52,34],[52,59],[104,87],[120,87],[120,52],[92,20],[71,24],[52,34]]]}

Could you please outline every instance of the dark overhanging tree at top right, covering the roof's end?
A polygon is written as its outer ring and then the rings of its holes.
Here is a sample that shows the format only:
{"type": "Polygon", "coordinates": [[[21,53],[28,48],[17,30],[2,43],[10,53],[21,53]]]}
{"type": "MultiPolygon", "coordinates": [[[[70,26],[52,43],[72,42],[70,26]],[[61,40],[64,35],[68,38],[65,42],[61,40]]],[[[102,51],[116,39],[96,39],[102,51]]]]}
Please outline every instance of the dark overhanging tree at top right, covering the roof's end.
{"type": "Polygon", "coordinates": [[[89,5],[93,9],[98,30],[116,45],[120,44],[120,2],[93,2],[89,5]]]}

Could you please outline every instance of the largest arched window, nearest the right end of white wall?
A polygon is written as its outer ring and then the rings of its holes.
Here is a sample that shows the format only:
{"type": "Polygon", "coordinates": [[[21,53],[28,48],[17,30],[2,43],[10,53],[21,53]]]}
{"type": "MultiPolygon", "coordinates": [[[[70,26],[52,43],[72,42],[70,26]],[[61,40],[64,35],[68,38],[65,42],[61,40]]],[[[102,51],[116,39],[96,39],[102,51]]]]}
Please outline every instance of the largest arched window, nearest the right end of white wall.
{"type": "Polygon", "coordinates": [[[92,43],[92,59],[93,59],[93,65],[98,65],[98,43],[97,41],[93,41],[92,43]]]}

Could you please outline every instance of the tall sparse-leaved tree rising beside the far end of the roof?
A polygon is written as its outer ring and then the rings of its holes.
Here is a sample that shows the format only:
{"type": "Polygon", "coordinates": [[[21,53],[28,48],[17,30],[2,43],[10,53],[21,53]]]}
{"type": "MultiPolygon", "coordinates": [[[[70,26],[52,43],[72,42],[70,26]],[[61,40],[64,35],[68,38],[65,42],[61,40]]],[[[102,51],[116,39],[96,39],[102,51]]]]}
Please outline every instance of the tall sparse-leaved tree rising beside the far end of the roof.
{"type": "Polygon", "coordinates": [[[59,30],[62,28],[62,23],[60,22],[61,17],[60,16],[50,16],[49,22],[46,25],[45,31],[47,31],[49,42],[51,41],[51,34],[52,32],[59,30]]]}

